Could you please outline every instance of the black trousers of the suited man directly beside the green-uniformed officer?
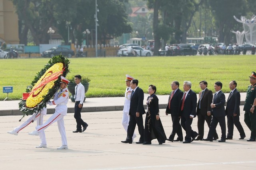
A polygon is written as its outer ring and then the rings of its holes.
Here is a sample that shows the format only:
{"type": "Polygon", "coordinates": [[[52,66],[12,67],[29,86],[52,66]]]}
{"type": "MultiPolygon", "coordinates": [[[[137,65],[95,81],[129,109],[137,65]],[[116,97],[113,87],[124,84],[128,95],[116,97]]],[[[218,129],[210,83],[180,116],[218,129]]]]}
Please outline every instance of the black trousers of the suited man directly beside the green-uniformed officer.
{"type": "Polygon", "coordinates": [[[233,137],[233,131],[234,131],[234,125],[236,126],[237,130],[240,133],[240,137],[245,137],[244,133],[244,128],[242,127],[240,121],[239,121],[239,116],[236,115],[227,115],[228,119],[228,138],[233,137]]]}

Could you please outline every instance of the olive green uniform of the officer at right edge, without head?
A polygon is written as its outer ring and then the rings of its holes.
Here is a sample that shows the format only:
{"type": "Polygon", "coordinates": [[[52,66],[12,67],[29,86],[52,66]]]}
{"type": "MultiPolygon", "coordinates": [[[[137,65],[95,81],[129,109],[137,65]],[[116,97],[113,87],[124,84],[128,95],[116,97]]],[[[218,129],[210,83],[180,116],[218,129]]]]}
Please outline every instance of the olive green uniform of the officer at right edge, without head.
{"type": "Polygon", "coordinates": [[[244,122],[251,131],[251,139],[256,138],[256,109],[253,113],[250,112],[254,99],[256,98],[256,84],[249,85],[246,93],[246,99],[244,103],[244,122]]]}

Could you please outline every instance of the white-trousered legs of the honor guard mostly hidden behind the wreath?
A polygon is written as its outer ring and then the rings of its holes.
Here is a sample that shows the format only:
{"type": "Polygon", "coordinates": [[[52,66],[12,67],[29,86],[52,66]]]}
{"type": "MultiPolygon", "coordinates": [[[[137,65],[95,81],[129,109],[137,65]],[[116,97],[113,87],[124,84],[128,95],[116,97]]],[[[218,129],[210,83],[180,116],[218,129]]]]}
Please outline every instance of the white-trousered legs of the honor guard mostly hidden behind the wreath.
{"type": "MultiPolygon", "coordinates": [[[[30,117],[28,117],[28,119],[24,123],[22,123],[22,125],[16,127],[13,131],[9,131],[7,133],[10,133],[12,135],[18,135],[18,133],[22,129],[24,129],[25,127],[27,127],[30,123],[32,123],[34,121],[36,121],[37,126],[42,125],[43,121],[44,121],[44,116],[46,115],[46,112],[47,112],[47,109],[46,109],[46,107],[44,107],[42,110],[38,111],[37,113],[33,113],[30,117]]],[[[44,131],[42,131],[42,133],[44,134],[44,131]]],[[[40,145],[45,145],[46,146],[45,135],[44,135],[43,138],[41,138],[41,144],[40,145]]]]}

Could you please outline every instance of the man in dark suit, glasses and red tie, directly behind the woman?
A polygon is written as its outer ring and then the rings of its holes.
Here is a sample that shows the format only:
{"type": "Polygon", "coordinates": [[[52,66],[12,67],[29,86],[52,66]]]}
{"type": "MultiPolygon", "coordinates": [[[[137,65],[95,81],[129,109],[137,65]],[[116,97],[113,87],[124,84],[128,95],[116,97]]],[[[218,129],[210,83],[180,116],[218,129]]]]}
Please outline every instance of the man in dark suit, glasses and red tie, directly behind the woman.
{"type": "Polygon", "coordinates": [[[171,114],[172,116],[172,133],[167,139],[168,141],[183,141],[182,129],[180,125],[180,117],[178,116],[178,109],[181,104],[183,92],[179,89],[180,83],[173,81],[171,84],[172,92],[169,96],[168,105],[166,107],[165,114],[171,114]],[[178,138],[174,140],[174,136],[177,133],[178,138]]]}

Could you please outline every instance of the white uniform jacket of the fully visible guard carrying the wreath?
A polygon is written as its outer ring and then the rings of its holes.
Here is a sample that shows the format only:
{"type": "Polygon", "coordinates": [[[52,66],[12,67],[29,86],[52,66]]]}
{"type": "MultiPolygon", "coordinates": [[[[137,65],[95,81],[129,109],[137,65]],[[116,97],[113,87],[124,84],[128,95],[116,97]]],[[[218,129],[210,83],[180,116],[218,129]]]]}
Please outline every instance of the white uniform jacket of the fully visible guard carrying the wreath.
{"type": "Polygon", "coordinates": [[[67,88],[60,89],[54,94],[54,98],[52,101],[49,101],[49,105],[57,105],[55,107],[55,113],[60,113],[62,115],[67,115],[69,92],[67,88]]]}

